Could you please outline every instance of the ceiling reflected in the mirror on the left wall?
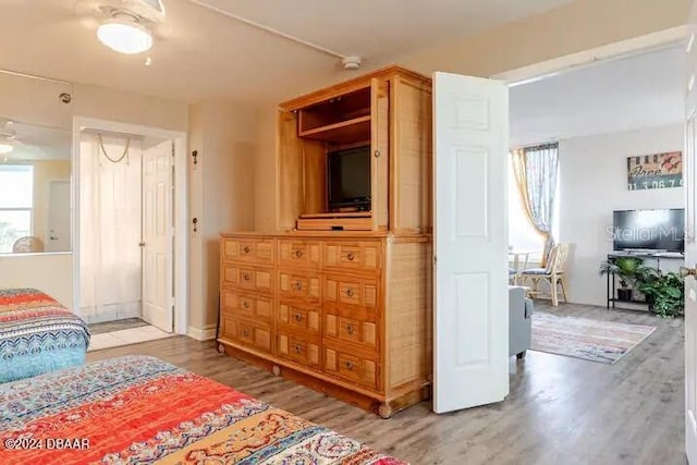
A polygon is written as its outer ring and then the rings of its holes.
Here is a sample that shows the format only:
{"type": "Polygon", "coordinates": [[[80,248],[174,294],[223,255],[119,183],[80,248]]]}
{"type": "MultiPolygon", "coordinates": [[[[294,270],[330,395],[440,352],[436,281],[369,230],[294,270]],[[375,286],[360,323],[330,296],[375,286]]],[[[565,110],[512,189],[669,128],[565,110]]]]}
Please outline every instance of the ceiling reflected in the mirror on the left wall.
{"type": "Polygon", "coordinates": [[[0,161],[70,160],[72,135],[68,130],[13,122],[0,126],[0,132],[14,134],[14,149],[0,156],[0,161]],[[7,158],[7,160],[5,160],[7,158]]]}

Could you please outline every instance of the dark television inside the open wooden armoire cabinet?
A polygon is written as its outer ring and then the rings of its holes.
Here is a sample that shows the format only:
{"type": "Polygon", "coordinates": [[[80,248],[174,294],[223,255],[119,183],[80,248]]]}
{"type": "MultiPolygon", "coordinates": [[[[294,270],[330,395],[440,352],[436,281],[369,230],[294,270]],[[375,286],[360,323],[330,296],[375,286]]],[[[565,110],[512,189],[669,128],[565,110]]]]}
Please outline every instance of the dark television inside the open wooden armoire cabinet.
{"type": "Polygon", "coordinates": [[[330,211],[370,210],[370,146],[327,155],[330,211]]]}

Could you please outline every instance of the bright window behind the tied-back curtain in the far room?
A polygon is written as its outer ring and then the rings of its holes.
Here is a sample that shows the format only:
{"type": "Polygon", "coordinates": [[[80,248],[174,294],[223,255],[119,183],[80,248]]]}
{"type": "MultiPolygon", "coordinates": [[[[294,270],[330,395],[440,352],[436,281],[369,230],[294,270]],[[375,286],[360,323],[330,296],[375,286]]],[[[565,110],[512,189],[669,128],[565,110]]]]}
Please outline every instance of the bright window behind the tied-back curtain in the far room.
{"type": "MultiPolygon", "coordinates": [[[[557,192],[554,195],[554,220],[552,223],[552,233],[559,242],[559,215],[561,199],[559,198],[559,175],[557,176],[557,192]]],[[[523,199],[518,193],[513,175],[513,158],[509,158],[509,246],[514,250],[533,252],[531,260],[538,261],[540,253],[545,247],[542,237],[535,231],[525,216],[523,199]]]]}

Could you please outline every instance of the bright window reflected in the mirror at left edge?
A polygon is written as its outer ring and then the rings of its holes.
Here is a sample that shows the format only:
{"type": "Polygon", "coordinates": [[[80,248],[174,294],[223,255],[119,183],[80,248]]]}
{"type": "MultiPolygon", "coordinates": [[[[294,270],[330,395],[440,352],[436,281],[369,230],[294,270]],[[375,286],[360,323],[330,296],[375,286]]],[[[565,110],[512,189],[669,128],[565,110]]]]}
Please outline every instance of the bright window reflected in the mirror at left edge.
{"type": "Polygon", "coordinates": [[[12,252],[14,242],[32,235],[34,168],[0,164],[0,253],[12,252]]]}

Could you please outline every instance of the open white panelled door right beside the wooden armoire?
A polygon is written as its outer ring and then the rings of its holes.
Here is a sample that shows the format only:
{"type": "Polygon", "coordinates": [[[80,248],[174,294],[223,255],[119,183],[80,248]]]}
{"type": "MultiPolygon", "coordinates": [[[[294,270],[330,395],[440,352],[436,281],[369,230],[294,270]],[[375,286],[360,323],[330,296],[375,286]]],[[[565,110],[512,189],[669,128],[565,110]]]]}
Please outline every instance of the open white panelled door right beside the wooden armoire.
{"type": "Polygon", "coordinates": [[[509,393],[509,90],[433,74],[433,409],[509,393]]]}

